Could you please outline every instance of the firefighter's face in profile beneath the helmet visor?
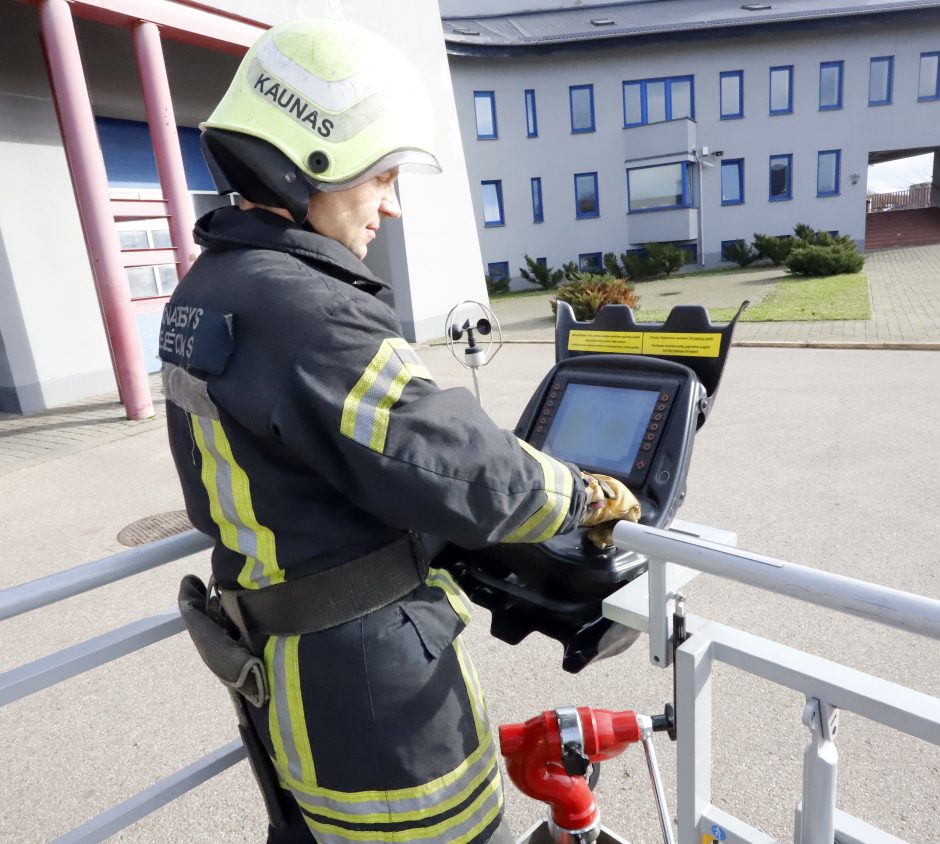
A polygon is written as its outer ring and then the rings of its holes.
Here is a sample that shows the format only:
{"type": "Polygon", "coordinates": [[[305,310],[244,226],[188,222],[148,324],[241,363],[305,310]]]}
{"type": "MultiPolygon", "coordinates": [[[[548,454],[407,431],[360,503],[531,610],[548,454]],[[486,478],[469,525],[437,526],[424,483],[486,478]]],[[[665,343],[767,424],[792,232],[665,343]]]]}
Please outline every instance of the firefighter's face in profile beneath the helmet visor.
{"type": "Polygon", "coordinates": [[[321,191],[310,200],[307,219],[324,237],[342,243],[360,260],[375,240],[383,217],[398,218],[401,208],[395,194],[398,168],[343,191],[321,191]]]}

